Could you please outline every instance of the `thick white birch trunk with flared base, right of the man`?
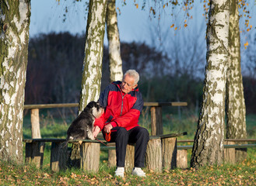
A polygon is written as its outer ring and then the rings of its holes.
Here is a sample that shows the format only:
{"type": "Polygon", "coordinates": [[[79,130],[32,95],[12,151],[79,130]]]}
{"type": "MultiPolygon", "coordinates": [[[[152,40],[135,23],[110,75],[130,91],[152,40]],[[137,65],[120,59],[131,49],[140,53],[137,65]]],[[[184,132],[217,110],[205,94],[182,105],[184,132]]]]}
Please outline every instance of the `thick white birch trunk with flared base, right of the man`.
{"type": "Polygon", "coordinates": [[[229,0],[210,1],[203,102],[191,167],[223,163],[229,9],[229,0]]]}

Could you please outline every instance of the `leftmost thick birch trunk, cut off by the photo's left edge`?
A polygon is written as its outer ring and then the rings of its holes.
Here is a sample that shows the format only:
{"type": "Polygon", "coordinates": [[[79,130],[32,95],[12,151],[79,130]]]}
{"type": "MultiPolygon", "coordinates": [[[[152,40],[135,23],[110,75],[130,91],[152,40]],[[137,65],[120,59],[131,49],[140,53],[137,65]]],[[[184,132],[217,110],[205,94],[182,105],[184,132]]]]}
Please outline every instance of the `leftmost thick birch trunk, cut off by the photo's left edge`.
{"type": "Polygon", "coordinates": [[[0,159],[22,163],[30,0],[1,0],[0,24],[0,159]]]}

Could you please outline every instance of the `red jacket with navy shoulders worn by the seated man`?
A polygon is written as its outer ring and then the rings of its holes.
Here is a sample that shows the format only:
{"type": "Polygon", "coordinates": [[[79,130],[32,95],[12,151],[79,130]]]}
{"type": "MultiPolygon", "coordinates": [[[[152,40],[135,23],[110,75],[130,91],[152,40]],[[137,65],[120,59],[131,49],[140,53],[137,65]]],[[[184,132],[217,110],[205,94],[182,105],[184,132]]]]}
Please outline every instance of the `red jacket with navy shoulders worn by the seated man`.
{"type": "Polygon", "coordinates": [[[121,81],[115,81],[100,94],[99,102],[105,111],[95,120],[94,126],[103,129],[105,125],[111,123],[113,127],[121,126],[127,130],[139,126],[143,99],[138,87],[124,94],[121,91],[121,81]]]}

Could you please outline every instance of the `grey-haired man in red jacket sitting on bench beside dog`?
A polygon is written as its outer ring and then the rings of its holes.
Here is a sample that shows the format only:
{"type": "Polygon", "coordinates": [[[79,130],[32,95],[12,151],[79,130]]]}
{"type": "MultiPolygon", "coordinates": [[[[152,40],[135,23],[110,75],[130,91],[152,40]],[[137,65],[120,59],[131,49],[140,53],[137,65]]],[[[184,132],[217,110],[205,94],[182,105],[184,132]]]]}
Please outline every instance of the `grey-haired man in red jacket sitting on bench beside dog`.
{"type": "Polygon", "coordinates": [[[143,106],[138,82],[138,72],[128,70],[122,81],[114,81],[100,94],[99,102],[105,111],[94,122],[93,136],[96,137],[102,130],[105,139],[106,134],[110,133],[110,142],[116,143],[117,170],[115,176],[124,177],[126,146],[128,143],[135,143],[135,167],[132,174],[146,177],[142,167],[145,167],[149,132],[138,124],[143,106]]]}

